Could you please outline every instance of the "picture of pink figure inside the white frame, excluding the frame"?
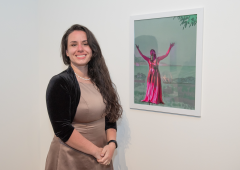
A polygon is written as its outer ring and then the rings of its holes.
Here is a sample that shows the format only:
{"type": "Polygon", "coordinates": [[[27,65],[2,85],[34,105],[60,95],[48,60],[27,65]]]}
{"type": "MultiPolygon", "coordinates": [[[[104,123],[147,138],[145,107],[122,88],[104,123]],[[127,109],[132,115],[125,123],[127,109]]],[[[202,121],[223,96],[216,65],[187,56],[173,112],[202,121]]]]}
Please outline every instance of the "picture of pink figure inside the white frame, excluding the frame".
{"type": "Polygon", "coordinates": [[[134,21],[134,103],[195,109],[197,15],[134,21]]]}

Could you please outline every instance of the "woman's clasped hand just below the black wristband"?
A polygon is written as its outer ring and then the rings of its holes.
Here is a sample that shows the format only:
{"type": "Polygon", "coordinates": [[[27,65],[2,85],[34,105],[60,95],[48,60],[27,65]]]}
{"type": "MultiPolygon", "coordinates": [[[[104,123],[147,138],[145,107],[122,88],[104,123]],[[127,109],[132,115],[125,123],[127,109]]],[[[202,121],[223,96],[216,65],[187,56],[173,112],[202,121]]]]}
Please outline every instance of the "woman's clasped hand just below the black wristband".
{"type": "Polygon", "coordinates": [[[108,165],[112,160],[113,153],[114,153],[115,149],[116,149],[115,143],[113,143],[113,142],[109,143],[102,150],[102,153],[101,153],[102,158],[98,159],[97,161],[100,164],[108,165]]]}

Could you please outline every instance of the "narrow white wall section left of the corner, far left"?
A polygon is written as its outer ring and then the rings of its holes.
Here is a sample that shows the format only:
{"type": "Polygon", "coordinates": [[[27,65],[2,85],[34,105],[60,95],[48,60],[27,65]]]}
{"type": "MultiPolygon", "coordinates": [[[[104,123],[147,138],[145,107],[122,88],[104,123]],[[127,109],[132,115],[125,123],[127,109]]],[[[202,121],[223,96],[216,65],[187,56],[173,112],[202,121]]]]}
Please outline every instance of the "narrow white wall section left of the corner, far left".
{"type": "Polygon", "coordinates": [[[37,1],[0,2],[0,169],[40,169],[37,1]]]}

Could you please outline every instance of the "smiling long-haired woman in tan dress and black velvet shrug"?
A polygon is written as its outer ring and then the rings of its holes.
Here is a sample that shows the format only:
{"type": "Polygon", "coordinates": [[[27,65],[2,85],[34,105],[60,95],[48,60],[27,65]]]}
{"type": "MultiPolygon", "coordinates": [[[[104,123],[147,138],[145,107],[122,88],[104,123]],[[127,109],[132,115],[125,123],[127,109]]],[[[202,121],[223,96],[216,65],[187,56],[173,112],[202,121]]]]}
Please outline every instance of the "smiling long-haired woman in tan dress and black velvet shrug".
{"type": "Polygon", "coordinates": [[[45,170],[112,170],[122,107],[99,44],[76,24],[62,38],[61,55],[69,67],[52,77],[46,93],[55,136],[45,170]]]}

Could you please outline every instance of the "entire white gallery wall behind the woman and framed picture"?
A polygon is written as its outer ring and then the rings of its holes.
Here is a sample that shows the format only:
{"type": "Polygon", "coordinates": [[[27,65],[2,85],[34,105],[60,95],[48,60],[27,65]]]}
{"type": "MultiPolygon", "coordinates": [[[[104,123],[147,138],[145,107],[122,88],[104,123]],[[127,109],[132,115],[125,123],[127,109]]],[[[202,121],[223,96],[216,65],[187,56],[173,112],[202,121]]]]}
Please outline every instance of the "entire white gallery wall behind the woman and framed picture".
{"type": "Polygon", "coordinates": [[[239,170],[237,0],[1,1],[0,169],[44,169],[53,131],[45,92],[66,67],[60,41],[71,25],[98,39],[123,106],[116,170],[239,170]],[[202,116],[129,109],[131,15],[204,7],[202,116]]]}

